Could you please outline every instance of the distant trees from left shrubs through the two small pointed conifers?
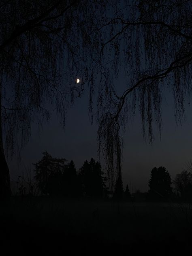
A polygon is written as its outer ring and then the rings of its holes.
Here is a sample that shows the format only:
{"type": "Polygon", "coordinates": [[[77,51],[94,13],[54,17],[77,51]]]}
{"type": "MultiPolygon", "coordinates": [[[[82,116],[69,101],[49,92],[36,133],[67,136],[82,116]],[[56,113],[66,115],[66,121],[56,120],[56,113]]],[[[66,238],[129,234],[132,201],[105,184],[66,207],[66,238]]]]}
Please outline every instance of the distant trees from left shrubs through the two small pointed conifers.
{"type": "Polygon", "coordinates": [[[76,171],[73,160],[67,163],[65,158],[53,158],[47,151],[43,152],[41,160],[34,165],[34,182],[24,182],[24,177],[18,176],[17,195],[57,196],[63,198],[108,198],[130,199],[128,185],[123,190],[122,176],[116,181],[115,191],[107,187],[107,177],[101,170],[101,165],[93,158],[85,160],[79,171],[76,171]],[[26,184],[29,189],[27,192],[26,184]]]}

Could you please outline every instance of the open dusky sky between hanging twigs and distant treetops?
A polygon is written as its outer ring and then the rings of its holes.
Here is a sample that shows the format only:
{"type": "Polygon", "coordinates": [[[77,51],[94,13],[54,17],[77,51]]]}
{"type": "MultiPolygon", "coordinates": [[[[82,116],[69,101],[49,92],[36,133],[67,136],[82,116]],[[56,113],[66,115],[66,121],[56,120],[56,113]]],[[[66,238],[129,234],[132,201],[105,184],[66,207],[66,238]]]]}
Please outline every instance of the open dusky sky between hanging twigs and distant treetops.
{"type": "MultiPolygon", "coordinates": [[[[154,129],[153,144],[145,143],[139,111],[124,134],[122,177],[124,188],[128,183],[132,192],[136,189],[142,192],[148,190],[149,175],[154,166],[165,166],[174,179],[192,158],[191,107],[187,104],[187,121],[177,127],[171,95],[167,93],[163,99],[161,140],[159,132],[154,129]]],[[[15,159],[9,161],[11,179],[16,180],[17,175],[22,175],[24,166],[33,169],[31,164],[40,160],[45,150],[53,157],[73,159],[77,171],[86,159],[97,159],[97,127],[90,124],[86,94],[68,111],[65,130],[59,122],[53,112],[49,124],[43,126],[41,133],[36,125],[33,126],[30,142],[21,152],[20,165],[17,166],[15,159]]],[[[104,165],[102,167],[105,168],[104,165]]]]}

